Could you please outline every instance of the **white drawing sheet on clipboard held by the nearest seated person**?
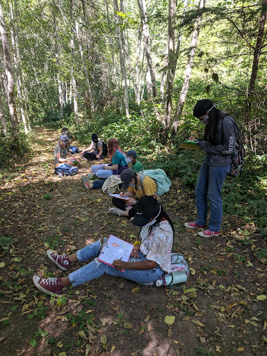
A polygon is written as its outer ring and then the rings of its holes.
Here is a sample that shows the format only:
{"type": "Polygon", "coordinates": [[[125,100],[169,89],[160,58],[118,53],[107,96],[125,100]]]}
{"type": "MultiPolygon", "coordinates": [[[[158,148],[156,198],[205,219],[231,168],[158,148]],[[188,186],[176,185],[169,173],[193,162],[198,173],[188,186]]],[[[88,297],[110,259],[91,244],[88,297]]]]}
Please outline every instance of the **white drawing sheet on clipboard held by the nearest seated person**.
{"type": "Polygon", "coordinates": [[[106,245],[103,246],[99,257],[97,259],[104,264],[113,266],[115,259],[121,259],[124,262],[128,262],[131,256],[133,245],[127,241],[122,240],[116,236],[109,236],[106,245]]]}

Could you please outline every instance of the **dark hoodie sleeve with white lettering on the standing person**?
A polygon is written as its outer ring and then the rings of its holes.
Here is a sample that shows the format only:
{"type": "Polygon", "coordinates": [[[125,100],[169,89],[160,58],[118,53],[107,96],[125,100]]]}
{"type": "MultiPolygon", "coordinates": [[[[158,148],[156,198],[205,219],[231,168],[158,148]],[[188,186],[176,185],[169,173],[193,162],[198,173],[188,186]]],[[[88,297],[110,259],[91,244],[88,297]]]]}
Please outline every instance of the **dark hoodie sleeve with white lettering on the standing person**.
{"type": "Polygon", "coordinates": [[[200,147],[206,149],[210,154],[232,155],[235,149],[236,138],[239,129],[232,118],[225,117],[222,122],[221,145],[213,146],[208,141],[200,141],[200,147]]]}

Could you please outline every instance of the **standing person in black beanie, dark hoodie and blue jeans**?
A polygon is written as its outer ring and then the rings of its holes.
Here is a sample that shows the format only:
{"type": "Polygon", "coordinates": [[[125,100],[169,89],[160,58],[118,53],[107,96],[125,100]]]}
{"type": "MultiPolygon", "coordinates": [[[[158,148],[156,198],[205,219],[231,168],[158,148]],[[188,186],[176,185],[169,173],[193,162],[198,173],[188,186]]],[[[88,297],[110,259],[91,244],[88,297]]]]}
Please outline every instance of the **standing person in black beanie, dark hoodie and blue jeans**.
{"type": "Polygon", "coordinates": [[[195,187],[197,220],[184,223],[184,226],[191,229],[204,229],[198,232],[202,237],[218,236],[223,218],[221,191],[223,182],[230,172],[236,138],[240,130],[234,118],[218,110],[209,99],[199,100],[195,104],[193,115],[206,125],[204,139],[198,140],[198,145],[206,150],[206,156],[195,187]],[[211,215],[207,226],[208,202],[211,215]]]}

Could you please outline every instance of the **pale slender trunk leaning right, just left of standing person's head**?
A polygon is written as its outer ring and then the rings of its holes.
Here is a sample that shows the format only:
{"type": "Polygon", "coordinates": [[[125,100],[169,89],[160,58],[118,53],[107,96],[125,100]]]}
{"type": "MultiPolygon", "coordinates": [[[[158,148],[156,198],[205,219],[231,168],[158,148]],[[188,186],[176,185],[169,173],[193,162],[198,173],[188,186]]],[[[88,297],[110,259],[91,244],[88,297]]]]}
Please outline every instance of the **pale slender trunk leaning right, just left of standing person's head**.
{"type": "MultiPolygon", "coordinates": [[[[198,5],[198,10],[202,10],[202,8],[204,8],[205,1],[206,0],[200,0],[199,5],[198,5]]],[[[197,19],[195,20],[195,29],[193,31],[192,40],[191,40],[191,49],[189,52],[188,62],[186,65],[186,71],[185,71],[185,75],[184,75],[184,84],[181,88],[181,94],[179,97],[179,103],[177,106],[175,121],[173,122],[173,129],[174,129],[175,133],[177,132],[177,127],[179,125],[179,120],[178,120],[179,115],[181,115],[183,108],[184,108],[184,103],[186,102],[186,96],[188,93],[189,83],[191,80],[191,75],[192,75],[192,70],[193,70],[195,51],[197,49],[198,35],[200,33],[201,19],[202,19],[202,16],[198,16],[197,19]]]]}

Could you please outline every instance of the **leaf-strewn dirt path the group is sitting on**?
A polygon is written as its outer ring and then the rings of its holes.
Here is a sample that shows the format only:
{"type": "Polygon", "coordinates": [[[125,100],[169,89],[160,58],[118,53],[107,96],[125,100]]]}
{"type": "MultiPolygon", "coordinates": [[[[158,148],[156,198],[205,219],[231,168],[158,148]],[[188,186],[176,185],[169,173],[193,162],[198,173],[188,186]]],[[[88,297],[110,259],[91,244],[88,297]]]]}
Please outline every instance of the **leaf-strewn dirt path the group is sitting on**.
{"type": "Polygon", "coordinates": [[[1,355],[266,356],[266,238],[235,216],[224,217],[217,238],[185,229],[195,197],[178,179],[162,202],[175,223],[173,251],[190,265],[182,289],[108,275],[61,298],[35,288],[35,273],[65,275],[48,248],[69,253],[100,236],[138,237],[127,218],[108,215],[110,197],[83,189],[91,163],[74,177],[54,175],[57,140],[58,132],[35,127],[33,152],[1,170],[1,355]],[[168,325],[166,316],[175,322],[168,325]]]}

